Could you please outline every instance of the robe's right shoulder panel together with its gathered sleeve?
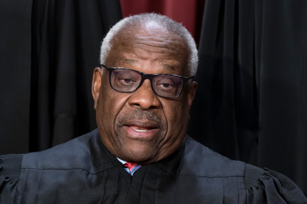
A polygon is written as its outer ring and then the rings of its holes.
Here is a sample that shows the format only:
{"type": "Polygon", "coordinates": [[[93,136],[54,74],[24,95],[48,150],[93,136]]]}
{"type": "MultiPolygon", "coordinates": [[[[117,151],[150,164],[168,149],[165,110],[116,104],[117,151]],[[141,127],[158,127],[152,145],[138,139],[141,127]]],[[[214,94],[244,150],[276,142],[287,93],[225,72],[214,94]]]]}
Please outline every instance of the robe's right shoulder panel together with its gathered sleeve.
{"type": "MultiPolygon", "coordinates": [[[[189,136],[185,138],[184,149],[185,169],[181,169],[182,175],[207,178],[236,177],[238,181],[242,178],[247,203],[307,203],[307,198],[301,189],[281,173],[231,160],[189,136]]],[[[240,185],[240,182],[238,184],[240,185]]]]}

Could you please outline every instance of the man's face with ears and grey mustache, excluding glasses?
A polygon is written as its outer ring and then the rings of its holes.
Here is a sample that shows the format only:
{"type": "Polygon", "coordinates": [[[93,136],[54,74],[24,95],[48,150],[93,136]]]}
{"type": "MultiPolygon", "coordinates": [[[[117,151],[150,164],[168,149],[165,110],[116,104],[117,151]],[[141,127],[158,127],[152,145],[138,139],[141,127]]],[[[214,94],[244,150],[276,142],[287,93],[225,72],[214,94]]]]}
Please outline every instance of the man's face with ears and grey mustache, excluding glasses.
{"type": "MultiPolygon", "coordinates": [[[[106,66],[189,77],[187,46],[180,37],[142,27],[124,28],[115,39],[106,66]]],[[[92,93],[104,145],[116,157],[138,164],[168,157],[185,137],[196,86],[186,82],[179,97],[167,99],[157,96],[146,79],[136,91],[122,93],[111,88],[107,70],[96,68],[92,93]]]]}

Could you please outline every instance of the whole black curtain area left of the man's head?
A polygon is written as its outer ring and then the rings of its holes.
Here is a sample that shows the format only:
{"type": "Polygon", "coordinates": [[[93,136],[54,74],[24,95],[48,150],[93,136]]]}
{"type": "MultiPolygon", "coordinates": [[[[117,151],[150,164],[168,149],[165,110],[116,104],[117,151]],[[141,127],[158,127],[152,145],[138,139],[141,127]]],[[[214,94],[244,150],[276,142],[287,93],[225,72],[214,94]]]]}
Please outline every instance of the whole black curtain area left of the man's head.
{"type": "Polygon", "coordinates": [[[96,128],[92,72],[119,1],[0,2],[0,154],[47,149],[96,128]]]}

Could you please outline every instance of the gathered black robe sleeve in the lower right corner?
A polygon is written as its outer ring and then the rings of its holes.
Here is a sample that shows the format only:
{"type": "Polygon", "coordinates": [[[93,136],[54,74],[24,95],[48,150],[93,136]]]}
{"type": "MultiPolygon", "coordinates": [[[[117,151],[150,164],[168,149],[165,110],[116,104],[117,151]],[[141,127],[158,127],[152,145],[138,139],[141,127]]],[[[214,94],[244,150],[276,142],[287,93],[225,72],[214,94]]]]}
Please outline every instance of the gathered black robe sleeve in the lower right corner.
{"type": "Polygon", "coordinates": [[[246,164],[244,180],[247,203],[307,203],[301,189],[281,173],[246,164]]]}

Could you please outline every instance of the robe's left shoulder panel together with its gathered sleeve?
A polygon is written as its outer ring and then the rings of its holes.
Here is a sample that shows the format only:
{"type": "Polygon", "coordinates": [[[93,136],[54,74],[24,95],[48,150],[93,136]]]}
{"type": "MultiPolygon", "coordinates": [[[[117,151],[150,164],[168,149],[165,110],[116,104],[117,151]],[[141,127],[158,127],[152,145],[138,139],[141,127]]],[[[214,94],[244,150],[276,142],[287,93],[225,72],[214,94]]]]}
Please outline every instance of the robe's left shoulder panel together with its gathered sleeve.
{"type": "Polygon", "coordinates": [[[101,152],[98,130],[72,139],[66,143],[54,146],[50,149],[26,154],[8,154],[0,156],[0,203],[14,203],[18,180],[25,180],[24,170],[55,170],[64,172],[80,169],[88,174],[97,174],[114,163],[99,162],[107,154],[101,152]]]}

